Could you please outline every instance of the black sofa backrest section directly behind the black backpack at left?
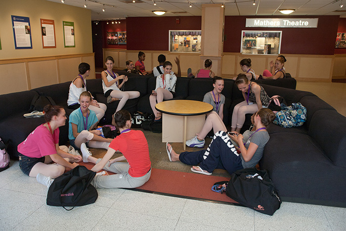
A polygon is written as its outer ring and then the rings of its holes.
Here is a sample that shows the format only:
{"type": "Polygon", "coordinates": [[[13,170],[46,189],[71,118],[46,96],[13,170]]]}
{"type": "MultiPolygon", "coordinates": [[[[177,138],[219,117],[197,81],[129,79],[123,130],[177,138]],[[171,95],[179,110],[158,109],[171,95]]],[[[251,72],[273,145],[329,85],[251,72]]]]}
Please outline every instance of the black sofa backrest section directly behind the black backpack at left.
{"type": "Polygon", "coordinates": [[[39,94],[50,96],[57,105],[67,107],[67,99],[69,97],[70,84],[71,81],[61,84],[53,84],[49,86],[35,88],[31,91],[35,91],[39,94]]]}

